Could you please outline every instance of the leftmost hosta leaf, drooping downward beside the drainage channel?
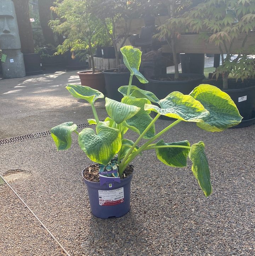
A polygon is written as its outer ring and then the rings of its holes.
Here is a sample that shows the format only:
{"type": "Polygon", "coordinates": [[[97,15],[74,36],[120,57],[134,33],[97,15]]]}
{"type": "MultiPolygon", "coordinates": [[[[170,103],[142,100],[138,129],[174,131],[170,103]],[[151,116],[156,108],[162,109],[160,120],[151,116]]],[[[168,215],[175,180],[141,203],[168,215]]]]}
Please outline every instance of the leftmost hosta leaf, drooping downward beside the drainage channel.
{"type": "Polygon", "coordinates": [[[68,149],[71,146],[71,134],[77,129],[77,125],[73,122],[64,122],[51,128],[51,136],[57,146],[57,150],[68,149]]]}

